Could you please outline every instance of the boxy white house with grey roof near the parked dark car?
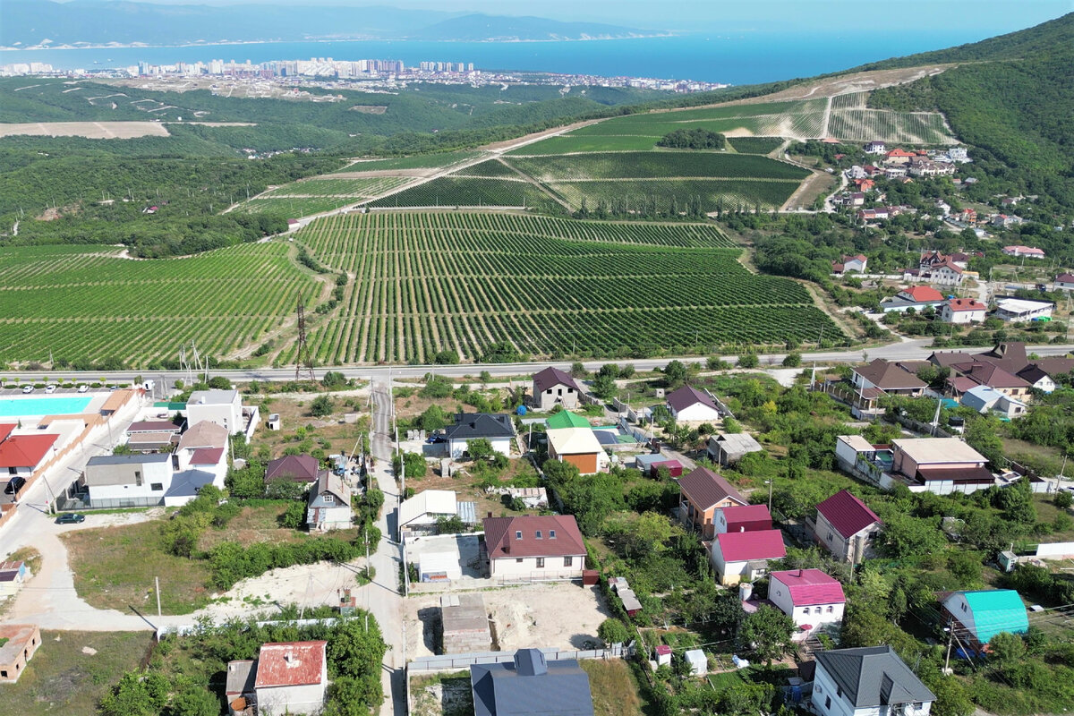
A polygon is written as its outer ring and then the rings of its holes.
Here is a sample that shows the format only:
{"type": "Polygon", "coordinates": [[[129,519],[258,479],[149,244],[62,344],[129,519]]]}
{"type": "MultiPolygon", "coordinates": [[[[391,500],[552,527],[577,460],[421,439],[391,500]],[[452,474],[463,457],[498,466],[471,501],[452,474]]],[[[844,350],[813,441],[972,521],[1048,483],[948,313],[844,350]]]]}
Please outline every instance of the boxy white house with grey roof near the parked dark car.
{"type": "Polygon", "coordinates": [[[172,456],[135,453],[90,457],[81,484],[89,491],[91,507],[162,505],[172,486],[172,456]]]}

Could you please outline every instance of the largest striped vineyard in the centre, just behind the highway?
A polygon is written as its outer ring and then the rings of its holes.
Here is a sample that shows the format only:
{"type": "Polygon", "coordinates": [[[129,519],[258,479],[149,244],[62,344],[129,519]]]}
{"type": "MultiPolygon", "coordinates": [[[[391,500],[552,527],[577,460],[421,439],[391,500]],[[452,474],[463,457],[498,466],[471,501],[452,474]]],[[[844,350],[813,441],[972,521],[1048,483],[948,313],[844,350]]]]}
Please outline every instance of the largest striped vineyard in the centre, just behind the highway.
{"type": "Polygon", "coordinates": [[[321,364],[475,360],[502,341],[632,356],[840,335],[802,287],[750,274],[711,225],[372,213],[319,219],[295,240],[353,277],[311,333],[321,364]]]}

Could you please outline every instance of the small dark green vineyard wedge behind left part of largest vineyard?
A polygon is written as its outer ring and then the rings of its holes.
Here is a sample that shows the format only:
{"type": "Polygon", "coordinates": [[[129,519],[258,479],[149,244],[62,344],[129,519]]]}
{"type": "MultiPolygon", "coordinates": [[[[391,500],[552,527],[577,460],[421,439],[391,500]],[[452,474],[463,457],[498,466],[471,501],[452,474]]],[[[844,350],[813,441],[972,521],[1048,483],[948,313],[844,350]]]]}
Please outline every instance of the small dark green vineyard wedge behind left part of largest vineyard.
{"type": "Polygon", "coordinates": [[[521,176],[517,179],[445,176],[369,202],[368,206],[378,208],[525,206],[555,211],[558,205],[555,200],[521,176]]]}

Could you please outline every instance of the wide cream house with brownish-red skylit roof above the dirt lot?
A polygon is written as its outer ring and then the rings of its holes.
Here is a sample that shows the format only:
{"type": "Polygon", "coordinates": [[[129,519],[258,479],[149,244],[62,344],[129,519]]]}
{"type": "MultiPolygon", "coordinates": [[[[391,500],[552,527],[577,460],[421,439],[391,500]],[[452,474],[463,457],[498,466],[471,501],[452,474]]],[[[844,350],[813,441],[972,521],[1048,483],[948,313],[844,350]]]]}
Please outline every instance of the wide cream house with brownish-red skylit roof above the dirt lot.
{"type": "Polygon", "coordinates": [[[481,556],[505,580],[572,580],[585,568],[585,542],[569,514],[487,517],[481,556]]]}

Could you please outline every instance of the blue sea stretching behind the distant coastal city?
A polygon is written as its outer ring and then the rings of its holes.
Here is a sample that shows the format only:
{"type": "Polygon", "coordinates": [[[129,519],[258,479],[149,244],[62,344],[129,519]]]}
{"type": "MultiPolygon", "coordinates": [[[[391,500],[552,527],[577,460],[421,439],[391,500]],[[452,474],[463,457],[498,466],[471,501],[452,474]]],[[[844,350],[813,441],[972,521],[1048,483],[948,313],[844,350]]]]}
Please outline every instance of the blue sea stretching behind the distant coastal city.
{"type": "Polygon", "coordinates": [[[57,69],[130,67],[222,59],[244,62],[331,57],[473,62],[479,70],[658,77],[746,85],[807,77],[988,36],[943,27],[872,32],[698,33],[672,38],[575,42],[265,42],[187,47],[2,50],[0,64],[47,62],[57,69]]]}

